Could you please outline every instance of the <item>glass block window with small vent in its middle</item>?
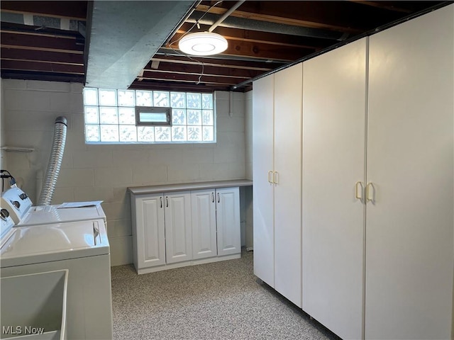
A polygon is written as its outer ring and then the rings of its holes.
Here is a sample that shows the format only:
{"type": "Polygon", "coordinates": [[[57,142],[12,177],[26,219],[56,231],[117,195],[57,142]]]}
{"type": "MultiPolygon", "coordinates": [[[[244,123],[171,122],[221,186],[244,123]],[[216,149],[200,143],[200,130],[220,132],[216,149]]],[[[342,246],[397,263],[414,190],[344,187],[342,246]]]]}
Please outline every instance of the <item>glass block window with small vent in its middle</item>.
{"type": "Polygon", "coordinates": [[[216,142],[214,94],[86,87],[84,122],[87,144],[216,142]],[[170,126],[138,124],[136,111],[151,107],[170,110],[170,126]]]}

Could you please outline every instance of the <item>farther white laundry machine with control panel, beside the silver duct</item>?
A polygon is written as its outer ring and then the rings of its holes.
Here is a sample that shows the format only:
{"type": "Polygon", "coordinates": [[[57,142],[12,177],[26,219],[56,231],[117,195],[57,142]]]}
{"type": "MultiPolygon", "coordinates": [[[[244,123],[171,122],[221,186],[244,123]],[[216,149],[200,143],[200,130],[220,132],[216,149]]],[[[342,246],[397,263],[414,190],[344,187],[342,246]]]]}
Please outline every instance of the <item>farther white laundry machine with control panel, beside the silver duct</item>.
{"type": "Polygon", "coordinates": [[[106,214],[100,202],[87,203],[87,206],[80,208],[60,208],[61,205],[35,206],[28,195],[16,186],[1,194],[1,208],[9,211],[16,226],[102,219],[106,227],[106,214]]]}

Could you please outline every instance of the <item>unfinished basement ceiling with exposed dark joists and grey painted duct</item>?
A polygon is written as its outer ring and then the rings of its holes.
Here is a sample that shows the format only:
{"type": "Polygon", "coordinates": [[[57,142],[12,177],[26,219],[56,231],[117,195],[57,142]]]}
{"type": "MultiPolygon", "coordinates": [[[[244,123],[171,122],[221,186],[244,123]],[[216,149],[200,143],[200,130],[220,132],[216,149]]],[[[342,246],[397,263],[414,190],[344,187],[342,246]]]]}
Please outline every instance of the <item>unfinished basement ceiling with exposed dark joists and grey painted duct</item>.
{"type": "Polygon", "coordinates": [[[121,86],[133,89],[248,91],[255,77],[453,2],[1,1],[1,77],[87,81],[99,87],[112,87],[110,79],[118,78],[118,84],[121,80],[121,86]],[[119,8],[133,2],[143,11],[121,15],[119,8]],[[116,18],[96,23],[97,3],[105,3],[102,12],[114,12],[116,18]],[[172,3],[181,5],[178,13],[165,13],[172,3]],[[96,30],[89,27],[92,5],[96,30]],[[236,5],[214,29],[228,40],[225,52],[211,57],[179,52],[177,40],[188,30],[208,30],[236,5]],[[156,13],[161,8],[161,16],[150,15],[153,8],[156,13]],[[131,38],[116,38],[120,33],[131,38]],[[100,57],[102,50],[109,58],[100,57]]]}

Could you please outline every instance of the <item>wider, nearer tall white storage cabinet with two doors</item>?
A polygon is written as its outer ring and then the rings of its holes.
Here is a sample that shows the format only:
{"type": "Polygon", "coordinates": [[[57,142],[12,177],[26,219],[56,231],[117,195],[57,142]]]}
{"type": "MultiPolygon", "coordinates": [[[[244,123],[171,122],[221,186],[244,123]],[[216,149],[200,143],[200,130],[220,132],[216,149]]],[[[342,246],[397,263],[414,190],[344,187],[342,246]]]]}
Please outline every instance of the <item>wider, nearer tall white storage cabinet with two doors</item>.
{"type": "Polygon", "coordinates": [[[452,339],[453,94],[454,5],[304,62],[303,310],[343,339],[452,339]]]}

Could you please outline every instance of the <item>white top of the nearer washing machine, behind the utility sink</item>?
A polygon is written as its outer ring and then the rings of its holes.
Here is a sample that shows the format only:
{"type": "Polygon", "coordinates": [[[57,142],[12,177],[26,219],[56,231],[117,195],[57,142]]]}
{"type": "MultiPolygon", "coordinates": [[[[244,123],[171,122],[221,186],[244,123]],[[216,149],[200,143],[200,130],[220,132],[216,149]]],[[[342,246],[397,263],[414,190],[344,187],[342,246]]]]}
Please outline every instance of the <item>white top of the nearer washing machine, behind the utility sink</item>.
{"type": "Polygon", "coordinates": [[[14,227],[1,247],[0,266],[77,259],[109,254],[103,220],[14,227]]]}

